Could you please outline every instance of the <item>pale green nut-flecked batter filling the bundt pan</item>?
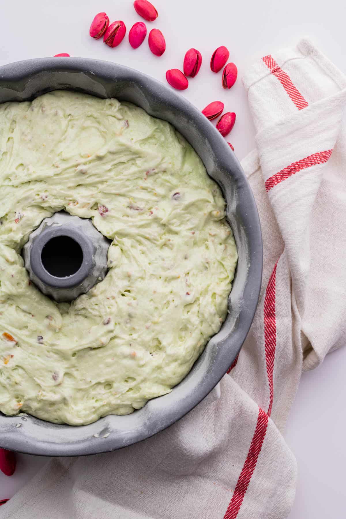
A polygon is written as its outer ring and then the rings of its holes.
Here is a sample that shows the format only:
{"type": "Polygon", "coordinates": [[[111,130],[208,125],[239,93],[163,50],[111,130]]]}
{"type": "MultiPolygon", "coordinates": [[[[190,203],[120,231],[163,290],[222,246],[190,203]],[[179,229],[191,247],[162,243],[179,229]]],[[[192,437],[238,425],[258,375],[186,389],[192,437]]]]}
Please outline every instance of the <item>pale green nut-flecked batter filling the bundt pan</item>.
{"type": "Polygon", "coordinates": [[[168,393],[225,319],[238,257],[196,152],[137,106],[55,91],[0,105],[0,157],[0,411],[82,425],[168,393]],[[113,240],[71,304],[20,255],[61,210],[113,240]]]}

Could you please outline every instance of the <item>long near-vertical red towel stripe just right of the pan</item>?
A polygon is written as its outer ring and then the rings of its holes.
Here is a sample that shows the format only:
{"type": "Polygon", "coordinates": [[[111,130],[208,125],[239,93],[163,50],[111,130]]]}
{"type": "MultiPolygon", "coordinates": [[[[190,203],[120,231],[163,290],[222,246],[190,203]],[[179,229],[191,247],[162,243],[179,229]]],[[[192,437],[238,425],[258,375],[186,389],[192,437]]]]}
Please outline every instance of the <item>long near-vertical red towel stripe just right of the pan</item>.
{"type": "MultiPolygon", "coordinates": [[[[279,261],[279,260],[278,260],[279,261]]],[[[275,320],[275,283],[276,283],[276,265],[275,263],[273,271],[270,275],[264,303],[264,323],[265,323],[265,351],[266,351],[266,364],[267,364],[267,375],[269,383],[269,407],[268,416],[271,414],[271,408],[273,405],[274,397],[274,384],[273,384],[273,373],[274,373],[274,358],[276,349],[276,320],[275,320]]]]}

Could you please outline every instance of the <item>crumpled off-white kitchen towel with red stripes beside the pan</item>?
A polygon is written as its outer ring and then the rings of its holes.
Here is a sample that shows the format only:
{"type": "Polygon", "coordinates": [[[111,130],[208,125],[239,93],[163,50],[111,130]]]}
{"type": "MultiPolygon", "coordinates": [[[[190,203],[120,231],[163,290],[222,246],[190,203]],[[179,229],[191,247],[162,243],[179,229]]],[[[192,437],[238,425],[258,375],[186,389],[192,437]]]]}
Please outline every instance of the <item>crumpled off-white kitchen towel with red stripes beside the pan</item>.
{"type": "Polygon", "coordinates": [[[244,85],[257,150],[242,165],[258,204],[264,275],[237,362],[153,438],[49,461],[0,519],[287,516],[297,468],[282,432],[301,370],[345,340],[346,78],[302,40],[259,59],[244,85]]]}

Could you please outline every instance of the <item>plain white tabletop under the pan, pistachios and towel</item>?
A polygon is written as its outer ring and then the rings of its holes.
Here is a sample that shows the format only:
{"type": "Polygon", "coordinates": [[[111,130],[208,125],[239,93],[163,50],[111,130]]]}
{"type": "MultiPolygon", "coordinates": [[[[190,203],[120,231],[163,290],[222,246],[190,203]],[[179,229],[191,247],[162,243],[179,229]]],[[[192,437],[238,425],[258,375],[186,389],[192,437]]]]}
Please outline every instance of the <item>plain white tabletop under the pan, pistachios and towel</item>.
{"type": "MultiPolygon", "coordinates": [[[[109,49],[102,40],[96,42],[89,37],[90,22],[99,10],[105,10],[111,21],[123,20],[129,30],[140,20],[132,0],[103,0],[101,4],[96,0],[2,2],[0,65],[68,52],[71,56],[128,65],[165,83],[165,71],[182,68],[185,51],[198,48],[204,59],[202,69],[182,95],[200,109],[219,99],[225,103],[225,111],[237,113],[236,126],[228,140],[239,159],[254,147],[254,127],[241,81],[225,91],[220,74],[209,69],[210,55],[216,47],[229,48],[230,61],[237,64],[241,77],[255,59],[309,36],[346,72],[345,8],[341,1],[155,0],[154,4],[159,18],[147,22],[147,28],[149,31],[157,27],[165,35],[167,50],[161,58],[151,54],[147,40],[133,50],[126,36],[118,48],[109,49]]],[[[345,517],[345,371],[343,349],[330,354],[322,366],[301,378],[286,431],[299,467],[296,501],[289,519],[345,517]]],[[[0,499],[15,494],[46,461],[47,458],[18,455],[16,473],[11,477],[0,473],[0,499]]]]}

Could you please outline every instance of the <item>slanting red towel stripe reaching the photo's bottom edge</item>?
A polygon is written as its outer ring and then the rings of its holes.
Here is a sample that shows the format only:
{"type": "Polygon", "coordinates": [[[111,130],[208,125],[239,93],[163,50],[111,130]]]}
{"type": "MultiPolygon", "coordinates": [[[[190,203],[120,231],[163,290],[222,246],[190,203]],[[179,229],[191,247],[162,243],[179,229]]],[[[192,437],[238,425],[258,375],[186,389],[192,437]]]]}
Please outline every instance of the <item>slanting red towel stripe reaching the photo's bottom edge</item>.
{"type": "Polygon", "coordinates": [[[259,407],[256,429],[251,441],[243,469],[240,473],[232,499],[228,505],[224,519],[236,519],[242,505],[248,484],[255,470],[257,459],[265,439],[268,426],[268,415],[259,407]]]}

